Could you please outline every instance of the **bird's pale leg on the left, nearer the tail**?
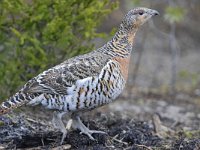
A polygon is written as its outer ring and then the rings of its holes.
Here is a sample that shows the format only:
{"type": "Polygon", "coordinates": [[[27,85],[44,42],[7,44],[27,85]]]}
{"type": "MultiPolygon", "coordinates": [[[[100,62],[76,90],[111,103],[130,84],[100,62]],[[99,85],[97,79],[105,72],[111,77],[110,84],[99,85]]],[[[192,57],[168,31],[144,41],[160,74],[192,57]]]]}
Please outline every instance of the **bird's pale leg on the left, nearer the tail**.
{"type": "Polygon", "coordinates": [[[62,122],[62,116],[65,114],[66,112],[59,112],[59,111],[54,111],[53,113],[53,126],[57,129],[59,129],[62,132],[62,139],[60,142],[60,145],[62,145],[66,135],[67,135],[67,130],[65,128],[65,125],[62,122]]]}

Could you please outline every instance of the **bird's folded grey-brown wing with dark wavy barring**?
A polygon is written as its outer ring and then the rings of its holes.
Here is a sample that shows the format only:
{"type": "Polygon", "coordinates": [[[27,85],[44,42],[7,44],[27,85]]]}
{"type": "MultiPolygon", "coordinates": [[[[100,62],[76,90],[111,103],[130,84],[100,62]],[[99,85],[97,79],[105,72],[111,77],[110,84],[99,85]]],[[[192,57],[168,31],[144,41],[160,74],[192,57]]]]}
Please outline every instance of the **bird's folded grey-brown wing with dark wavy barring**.
{"type": "Polygon", "coordinates": [[[30,80],[24,87],[27,93],[66,94],[77,80],[97,76],[109,61],[109,57],[89,53],[71,58],[30,80]]]}

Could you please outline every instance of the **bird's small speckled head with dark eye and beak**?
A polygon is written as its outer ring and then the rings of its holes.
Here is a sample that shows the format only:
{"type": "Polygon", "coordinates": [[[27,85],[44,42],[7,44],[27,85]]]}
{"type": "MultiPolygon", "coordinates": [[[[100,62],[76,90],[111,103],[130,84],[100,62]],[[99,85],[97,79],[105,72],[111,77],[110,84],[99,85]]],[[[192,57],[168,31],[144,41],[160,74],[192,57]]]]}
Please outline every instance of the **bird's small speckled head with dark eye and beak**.
{"type": "Polygon", "coordinates": [[[138,7],[130,10],[125,15],[121,25],[125,29],[138,28],[155,15],[159,15],[158,11],[144,7],[138,7]]]}

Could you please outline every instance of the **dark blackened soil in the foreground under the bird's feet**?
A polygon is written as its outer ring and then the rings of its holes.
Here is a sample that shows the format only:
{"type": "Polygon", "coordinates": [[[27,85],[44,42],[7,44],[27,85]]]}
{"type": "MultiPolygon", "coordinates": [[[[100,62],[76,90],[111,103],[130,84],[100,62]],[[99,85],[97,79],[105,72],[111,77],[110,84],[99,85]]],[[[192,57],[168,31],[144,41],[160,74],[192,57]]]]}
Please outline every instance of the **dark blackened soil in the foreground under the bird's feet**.
{"type": "MultiPolygon", "coordinates": [[[[98,119],[84,122],[90,129],[106,131],[108,135],[94,134],[96,141],[91,141],[79,131],[70,131],[64,145],[70,149],[182,149],[196,150],[200,148],[200,138],[188,139],[184,133],[177,137],[162,139],[155,135],[154,129],[146,122],[122,119],[122,116],[96,114],[98,119]]],[[[51,127],[34,122],[24,117],[13,120],[1,117],[4,125],[0,127],[0,143],[6,149],[52,149],[61,148],[59,142],[61,133],[53,131],[51,127]],[[16,121],[17,120],[17,121],[16,121]]],[[[64,147],[62,147],[64,149],[64,147]]]]}

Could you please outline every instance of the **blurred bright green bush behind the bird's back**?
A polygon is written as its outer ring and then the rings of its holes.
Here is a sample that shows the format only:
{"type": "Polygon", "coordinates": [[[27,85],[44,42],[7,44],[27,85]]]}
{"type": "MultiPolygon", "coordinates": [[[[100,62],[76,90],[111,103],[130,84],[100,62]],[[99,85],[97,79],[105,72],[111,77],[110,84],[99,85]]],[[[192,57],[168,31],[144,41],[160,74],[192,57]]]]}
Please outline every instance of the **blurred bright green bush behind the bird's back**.
{"type": "Polygon", "coordinates": [[[92,50],[108,0],[0,1],[0,100],[48,67],[92,50]]]}

